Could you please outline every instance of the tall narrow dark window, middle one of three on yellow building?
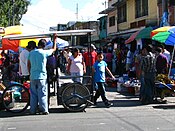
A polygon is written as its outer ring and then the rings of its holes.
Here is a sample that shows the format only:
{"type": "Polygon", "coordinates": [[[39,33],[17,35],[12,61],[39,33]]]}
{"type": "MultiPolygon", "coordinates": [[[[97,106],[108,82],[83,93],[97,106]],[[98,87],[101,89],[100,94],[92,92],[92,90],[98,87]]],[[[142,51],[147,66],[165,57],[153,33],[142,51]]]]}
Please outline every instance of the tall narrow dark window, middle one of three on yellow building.
{"type": "Polygon", "coordinates": [[[126,22],[126,3],[118,7],[118,23],[126,22]]]}

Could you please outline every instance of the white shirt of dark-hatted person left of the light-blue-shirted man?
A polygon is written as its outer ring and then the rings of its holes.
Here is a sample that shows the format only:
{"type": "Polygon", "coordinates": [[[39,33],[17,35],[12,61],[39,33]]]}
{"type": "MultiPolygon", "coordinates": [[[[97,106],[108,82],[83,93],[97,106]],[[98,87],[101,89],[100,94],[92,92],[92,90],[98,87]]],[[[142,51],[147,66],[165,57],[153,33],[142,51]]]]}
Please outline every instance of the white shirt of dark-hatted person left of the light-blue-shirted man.
{"type": "Polygon", "coordinates": [[[23,50],[19,55],[19,65],[21,68],[22,76],[29,75],[28,69],[27,69],[27,62],[29,57],[29,51],[23,50]]]}

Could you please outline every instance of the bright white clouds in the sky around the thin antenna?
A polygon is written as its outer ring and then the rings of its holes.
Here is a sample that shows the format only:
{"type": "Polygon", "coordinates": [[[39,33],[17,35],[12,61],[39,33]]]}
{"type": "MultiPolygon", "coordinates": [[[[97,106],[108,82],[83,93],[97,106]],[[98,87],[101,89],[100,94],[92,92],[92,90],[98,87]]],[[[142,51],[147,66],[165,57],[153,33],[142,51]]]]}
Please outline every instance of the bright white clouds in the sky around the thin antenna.
{"type": "MultiPolygon", "coordinates": [[[[102,5],[103,1],[105,0],[94,0],[85,5],[82,10],[78,11],[79,20],[97,20],[100,17],[98,13],[105,8],[102,5]]],[[[39,30],[48,30],[50,26],[56,26],[58,23],[75,20],[75,12],[63,8],[59,0],[39,0],[37,4],[29,6],[21,24],[39,30]]]]}

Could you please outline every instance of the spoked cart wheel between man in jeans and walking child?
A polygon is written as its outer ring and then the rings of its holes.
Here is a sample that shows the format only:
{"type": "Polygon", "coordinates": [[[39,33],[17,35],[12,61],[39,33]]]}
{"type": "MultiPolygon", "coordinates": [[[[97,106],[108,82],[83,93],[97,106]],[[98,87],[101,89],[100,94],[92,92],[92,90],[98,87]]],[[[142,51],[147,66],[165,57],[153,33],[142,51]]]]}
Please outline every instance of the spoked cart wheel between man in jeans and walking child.
{"type": "Polygon", "coordinates": [[[61,94],[62,104],[69,111],[83,111],[90,101],[91,95],[86,86],[80,83],[66,85],[61,94]]]}

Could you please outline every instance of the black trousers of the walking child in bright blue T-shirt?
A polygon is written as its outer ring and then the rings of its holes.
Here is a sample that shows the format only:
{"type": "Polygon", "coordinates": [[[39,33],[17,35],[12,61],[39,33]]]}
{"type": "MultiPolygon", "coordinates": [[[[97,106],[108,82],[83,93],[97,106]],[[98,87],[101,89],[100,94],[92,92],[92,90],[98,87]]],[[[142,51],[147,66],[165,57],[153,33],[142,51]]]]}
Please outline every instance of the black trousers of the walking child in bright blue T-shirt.
{"type": "Polygon", "coordinates": [[[97,82],[98,89],[96,90],[94,101],[96,102],[97,99],[101,96],[104,103],[108,102],[106,95],[105,95],[105,83],[104,82],[97,82]]]}

